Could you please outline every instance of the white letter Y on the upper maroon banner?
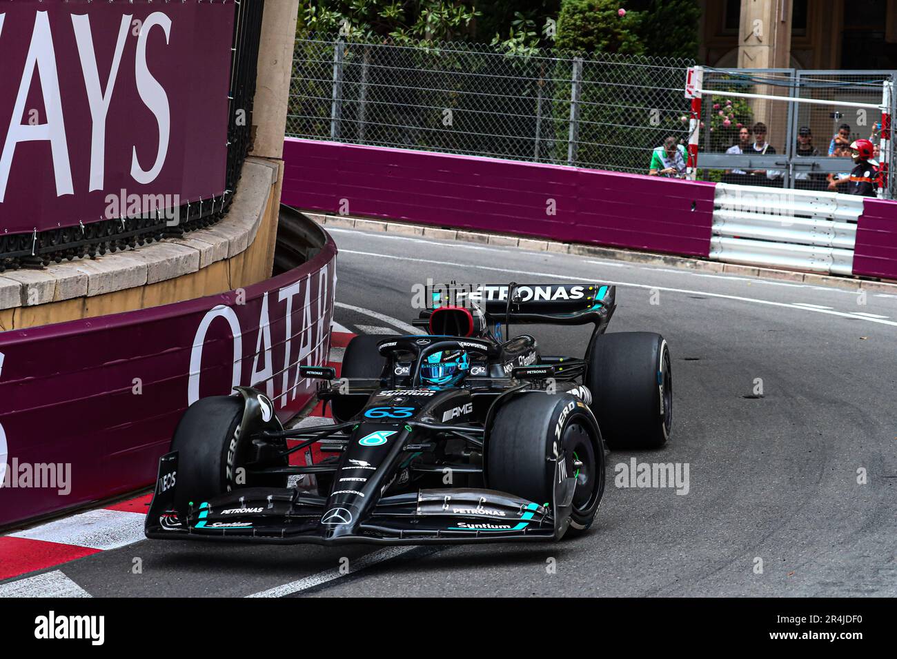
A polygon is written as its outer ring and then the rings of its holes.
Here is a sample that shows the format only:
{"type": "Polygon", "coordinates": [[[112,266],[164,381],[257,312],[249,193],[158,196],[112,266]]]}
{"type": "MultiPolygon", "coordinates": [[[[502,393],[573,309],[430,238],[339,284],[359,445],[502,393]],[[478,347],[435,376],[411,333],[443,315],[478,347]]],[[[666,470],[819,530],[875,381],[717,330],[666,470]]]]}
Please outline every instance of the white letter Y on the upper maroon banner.
{"type": "Polygon", "coordinates": [[[100,90],[100,73],[97,71],[97,56],[93,51],[93,37],[91,36],[91,19],[86,14],[72,14],[72,27],[74,39],[78,44],[78,56],[81,58],[81,70],[84,74],[84,88],[87,91],[87,100],[91,105],[91,185],[90,191],[103,189],[103,175],[105,173],[106,156],[106,114],[109,112],[109,101],[112,100],[112,90],[118,77],[118,65],[121,63],[121,54],[125,50],[127,30],[131,25],[131,14],[121,17],[121,25],[118,27],[118,42],[115,46],[115,54],[112,56],[112,67],[109,69],[109,78],[106,81],[106,90],[100,90]]]}

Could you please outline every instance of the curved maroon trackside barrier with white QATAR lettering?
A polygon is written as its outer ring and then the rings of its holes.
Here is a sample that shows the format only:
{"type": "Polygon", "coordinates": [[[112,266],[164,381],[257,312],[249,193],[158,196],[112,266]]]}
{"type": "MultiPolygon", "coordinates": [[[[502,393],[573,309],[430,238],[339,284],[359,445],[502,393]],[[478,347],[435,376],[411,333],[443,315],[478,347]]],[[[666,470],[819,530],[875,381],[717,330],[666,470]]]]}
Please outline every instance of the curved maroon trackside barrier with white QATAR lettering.
{"type": "Polygon", "coordinates": [[[318,236],[308,263],[245,290],[0,333],[0,526],[152,483],[200,396],[254,384],[281,417],[308,403],[296,367],[327,358],[334,305],[336,247],[318,236]],[[57,469],[70,492],[46,487],[57,469]]]}

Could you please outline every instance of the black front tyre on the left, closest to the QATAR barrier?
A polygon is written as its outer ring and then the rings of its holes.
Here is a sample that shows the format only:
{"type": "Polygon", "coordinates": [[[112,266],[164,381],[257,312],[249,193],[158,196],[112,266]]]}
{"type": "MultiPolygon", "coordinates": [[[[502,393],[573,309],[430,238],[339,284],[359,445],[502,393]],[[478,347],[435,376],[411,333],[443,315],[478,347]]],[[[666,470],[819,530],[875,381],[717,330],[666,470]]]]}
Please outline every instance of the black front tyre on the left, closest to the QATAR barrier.
{"type": "Polygon", "coordinates": [[[238,488],[286,487],[286,475],[250,477],[238,471],[252,452],[239,427],[243,406],[239,395],[209,396],[184,412],[171,439],[171,450],[179,453],[175,509],[186,511],[190,501],[196,505],[197,498],[211,499],[238,488]]]}

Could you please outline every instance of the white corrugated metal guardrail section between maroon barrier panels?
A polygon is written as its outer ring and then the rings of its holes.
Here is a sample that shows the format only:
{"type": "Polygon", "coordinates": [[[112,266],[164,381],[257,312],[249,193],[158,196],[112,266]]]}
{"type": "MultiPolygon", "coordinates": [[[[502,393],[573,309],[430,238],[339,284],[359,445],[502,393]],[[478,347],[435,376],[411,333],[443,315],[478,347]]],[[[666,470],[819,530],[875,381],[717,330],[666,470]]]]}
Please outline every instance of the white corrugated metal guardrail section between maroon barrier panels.
{"type": "Polygon", "coordinates": [[[853,273],[861,196],[722,183],[713,205],[711,259],[853,273]]]}

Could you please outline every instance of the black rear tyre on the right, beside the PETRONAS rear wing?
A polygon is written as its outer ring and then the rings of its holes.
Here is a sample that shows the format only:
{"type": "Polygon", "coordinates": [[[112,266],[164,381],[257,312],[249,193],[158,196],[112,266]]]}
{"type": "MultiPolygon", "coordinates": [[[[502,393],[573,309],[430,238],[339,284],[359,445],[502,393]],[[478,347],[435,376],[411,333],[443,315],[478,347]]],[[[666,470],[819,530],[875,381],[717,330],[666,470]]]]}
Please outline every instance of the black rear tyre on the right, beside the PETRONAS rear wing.
{"type": "Polygon", "coordinates": [[[664,337],[649,332],[597,334],[586,386],[610,448],[659,448],[673,423],[673,374],[664,337]]]}

